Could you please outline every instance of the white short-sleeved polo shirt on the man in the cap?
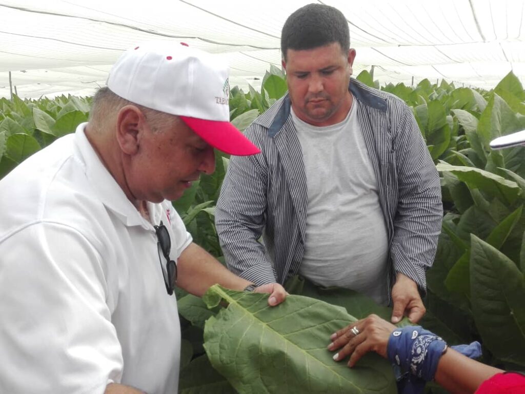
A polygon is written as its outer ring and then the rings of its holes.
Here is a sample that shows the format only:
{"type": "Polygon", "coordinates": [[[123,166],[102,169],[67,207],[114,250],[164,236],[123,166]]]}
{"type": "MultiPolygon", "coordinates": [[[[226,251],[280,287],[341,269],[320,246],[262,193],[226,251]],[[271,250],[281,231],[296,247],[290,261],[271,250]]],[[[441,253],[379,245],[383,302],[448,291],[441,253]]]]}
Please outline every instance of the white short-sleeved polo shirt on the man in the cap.
{"type": "MultiPolygon", "coordinates": [[[[0,181],[0,392],[103,393],[118,382],[176,393],[180,323],[153,225],[85,126],[0,181]]],[[[170,202],[148,208],[176,261],[190,234],[170,202]]]]}

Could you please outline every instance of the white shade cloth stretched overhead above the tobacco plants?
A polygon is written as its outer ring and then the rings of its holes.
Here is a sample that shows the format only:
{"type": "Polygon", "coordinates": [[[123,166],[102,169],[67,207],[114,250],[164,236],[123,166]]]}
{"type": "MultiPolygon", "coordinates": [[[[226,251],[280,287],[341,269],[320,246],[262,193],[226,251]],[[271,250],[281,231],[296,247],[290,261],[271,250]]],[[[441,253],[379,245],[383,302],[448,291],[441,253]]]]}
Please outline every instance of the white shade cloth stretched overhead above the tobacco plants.
{"type": "MultiPolygon", "coordinates": [[[[280,32],[301,0],[0,0],[0,97],[92,95],[119,55],[154,39],[225,56],[230,86],[259,88],[281,66],[280,32]]],[[[513,71],[525,85],[525,0],[327,0],[356,49],[354,75],[491,89],[513,71]]]]}

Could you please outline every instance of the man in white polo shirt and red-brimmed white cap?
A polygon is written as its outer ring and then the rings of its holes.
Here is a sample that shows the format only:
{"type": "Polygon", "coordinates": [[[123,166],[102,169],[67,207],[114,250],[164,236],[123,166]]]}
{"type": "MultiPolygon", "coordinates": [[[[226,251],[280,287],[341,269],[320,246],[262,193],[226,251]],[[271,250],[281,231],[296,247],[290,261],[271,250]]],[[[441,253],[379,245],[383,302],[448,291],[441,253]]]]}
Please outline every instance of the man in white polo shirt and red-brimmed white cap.
{"type": "Polygon", "coordinates": [[[174,284],[251,286],[192,242],[170,203],[214,171],[214,147],[258,152],[228,122],[227,95],[219,59],[138,45],[88,123],[0,182],[0,392],[177,392],[174,284]]]}

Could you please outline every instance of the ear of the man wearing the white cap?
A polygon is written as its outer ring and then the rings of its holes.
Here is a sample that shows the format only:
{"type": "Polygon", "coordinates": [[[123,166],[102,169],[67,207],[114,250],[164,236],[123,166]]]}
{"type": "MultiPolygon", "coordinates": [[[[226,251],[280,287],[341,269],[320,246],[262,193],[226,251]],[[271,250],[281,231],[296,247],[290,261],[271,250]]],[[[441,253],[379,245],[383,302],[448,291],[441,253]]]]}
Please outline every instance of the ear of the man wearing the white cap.
{"type": "Polygon", "coordinates": [[[146,119],[139,108],[127,105],[120,109],[117,115],[117,141],[123,153],[133,155],[138,152],[145,126],[146,119]]]}

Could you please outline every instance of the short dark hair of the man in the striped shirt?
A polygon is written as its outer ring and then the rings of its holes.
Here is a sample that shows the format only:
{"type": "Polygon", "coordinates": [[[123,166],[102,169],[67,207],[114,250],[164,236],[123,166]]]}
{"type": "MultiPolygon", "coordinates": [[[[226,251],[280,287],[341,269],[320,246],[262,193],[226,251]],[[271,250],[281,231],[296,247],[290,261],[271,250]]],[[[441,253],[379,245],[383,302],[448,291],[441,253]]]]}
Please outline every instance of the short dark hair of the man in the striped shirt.
{"type": "Polygon", "coordinates": [[[286,60],[288,49],[312,49],[335,42],[344,53],[350,49],[350,31],[343,13],[328,5],[308,4],[291,14],[282,27],[282,58],[286,60]]]}

